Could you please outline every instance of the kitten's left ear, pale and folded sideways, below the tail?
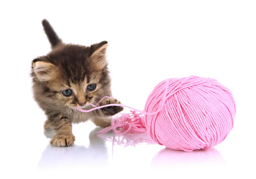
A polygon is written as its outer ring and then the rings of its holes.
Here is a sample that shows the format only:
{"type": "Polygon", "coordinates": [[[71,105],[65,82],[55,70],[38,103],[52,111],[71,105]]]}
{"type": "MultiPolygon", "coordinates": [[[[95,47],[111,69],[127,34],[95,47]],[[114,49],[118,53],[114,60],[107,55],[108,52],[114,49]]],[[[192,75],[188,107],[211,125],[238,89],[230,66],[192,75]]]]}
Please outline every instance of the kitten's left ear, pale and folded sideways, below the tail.
{"type": "Polygon", "coordinates": [[[55,76],[56,66],[49,62],[35,59],[32,62],[32,68],[39,81],[48,81],[55,76]]]}

